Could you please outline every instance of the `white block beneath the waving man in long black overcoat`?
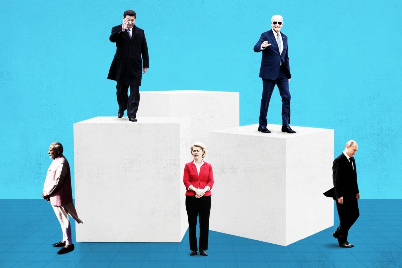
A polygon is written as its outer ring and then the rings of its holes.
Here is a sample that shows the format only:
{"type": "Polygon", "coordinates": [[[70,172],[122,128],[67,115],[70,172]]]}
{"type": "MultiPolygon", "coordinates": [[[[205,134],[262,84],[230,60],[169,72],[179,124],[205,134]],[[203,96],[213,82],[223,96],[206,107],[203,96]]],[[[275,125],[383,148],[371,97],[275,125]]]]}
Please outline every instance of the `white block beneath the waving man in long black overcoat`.
{"type": "Polygon", "coordinates": [[[79,242],[180,242],[190,118],[95,117],[74,124],[79,242]]]}

